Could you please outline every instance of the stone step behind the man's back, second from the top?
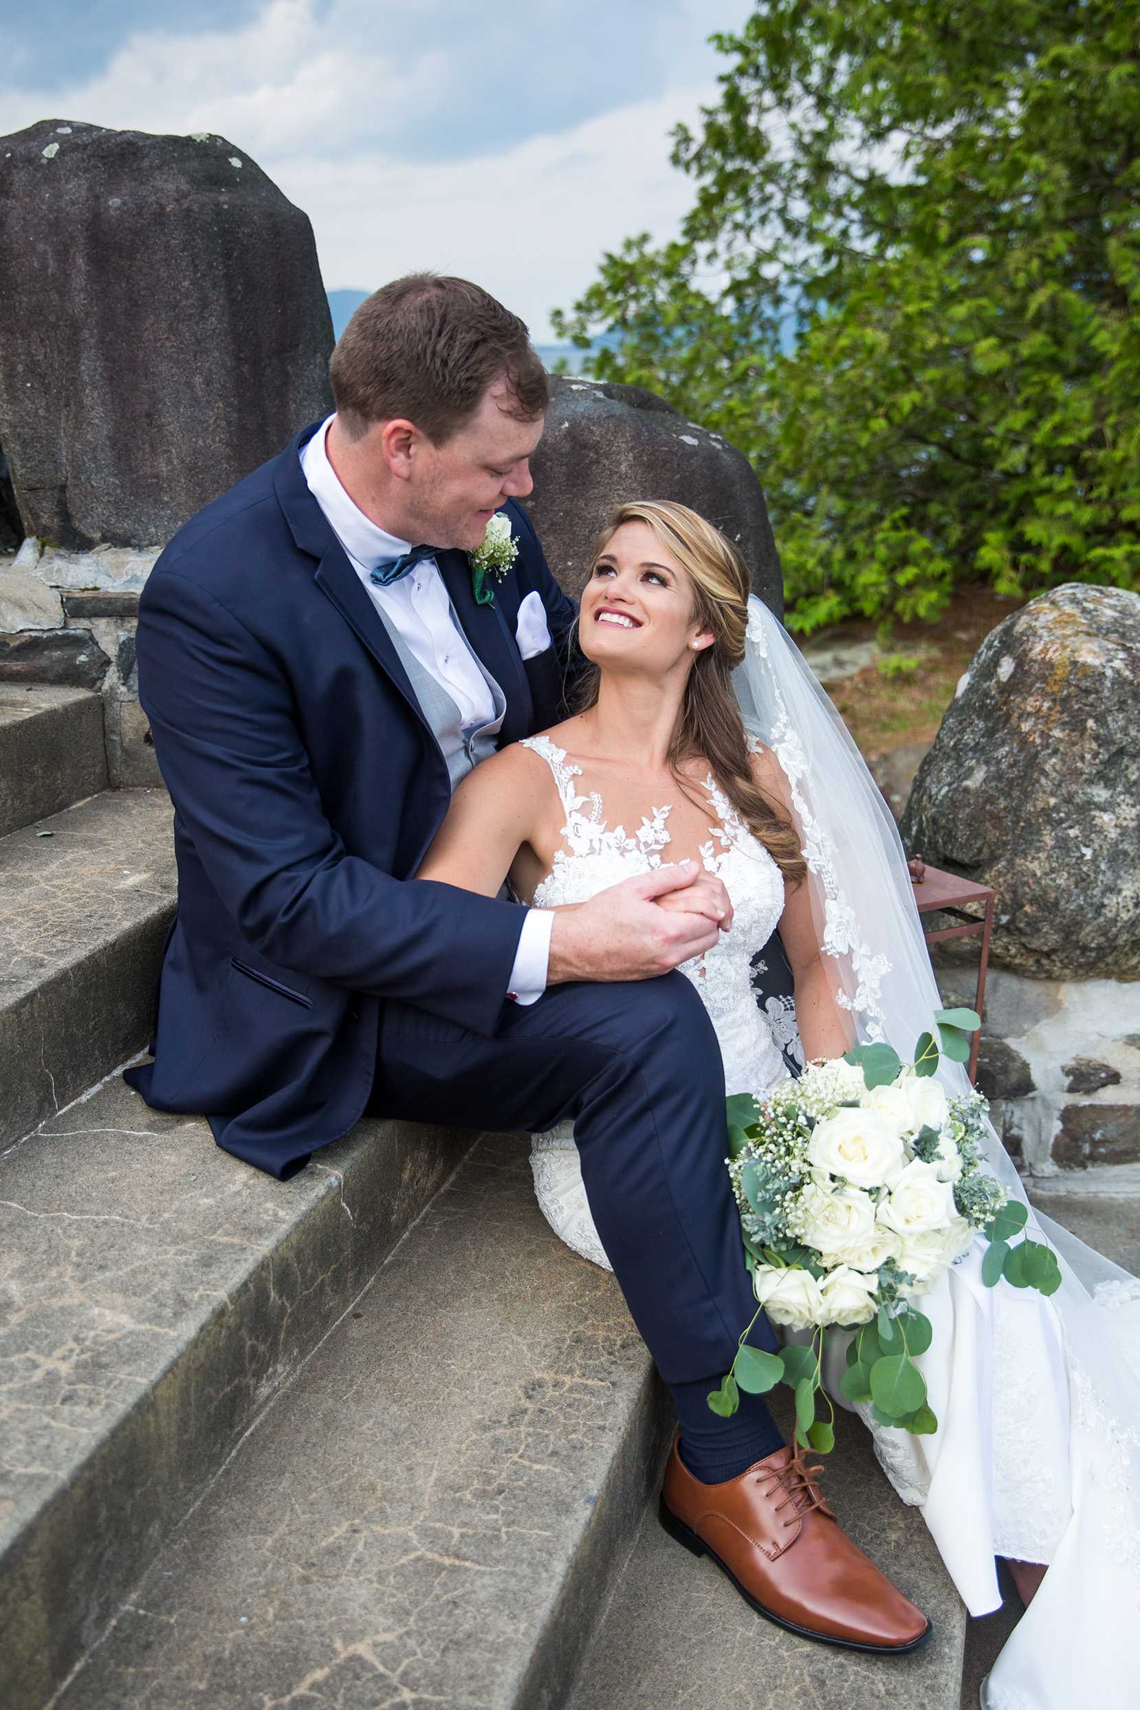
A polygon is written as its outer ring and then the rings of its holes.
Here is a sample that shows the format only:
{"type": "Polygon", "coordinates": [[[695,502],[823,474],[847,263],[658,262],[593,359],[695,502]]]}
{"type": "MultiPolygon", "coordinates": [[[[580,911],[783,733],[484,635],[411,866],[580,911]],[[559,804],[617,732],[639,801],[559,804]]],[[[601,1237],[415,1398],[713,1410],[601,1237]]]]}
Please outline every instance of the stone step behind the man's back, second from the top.
{"type": "Polygon", "coordinates": [[[174,889],[162,790],[104,790],[0,838],[0,1142],[147,1043],[174,889]]]}

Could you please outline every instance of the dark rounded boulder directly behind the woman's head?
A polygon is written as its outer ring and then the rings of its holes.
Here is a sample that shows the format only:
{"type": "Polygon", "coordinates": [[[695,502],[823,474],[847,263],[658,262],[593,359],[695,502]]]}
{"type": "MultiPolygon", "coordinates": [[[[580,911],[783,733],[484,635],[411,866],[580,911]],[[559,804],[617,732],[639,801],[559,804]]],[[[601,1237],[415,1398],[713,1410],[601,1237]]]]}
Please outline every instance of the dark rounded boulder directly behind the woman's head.
{"type": "Polygon", "coordinates": [[[525,503],[567,593],[581,593],[593,542],[615,504],[675,499],[737,542],[754,592],[783,617],[784,585],[764,494],[735,445],[687,422],[644,386],[559,374],[552,393],[547,429],[530,460],[535,491],[525,503]]]}

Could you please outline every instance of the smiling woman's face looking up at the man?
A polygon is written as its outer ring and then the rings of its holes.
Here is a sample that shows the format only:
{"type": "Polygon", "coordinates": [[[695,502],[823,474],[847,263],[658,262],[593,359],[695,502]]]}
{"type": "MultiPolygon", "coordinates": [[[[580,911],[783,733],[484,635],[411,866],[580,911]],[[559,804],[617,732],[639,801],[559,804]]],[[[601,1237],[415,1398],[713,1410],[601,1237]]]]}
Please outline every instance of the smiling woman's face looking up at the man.
{"type": "Polygon", "coordinates": [[[578,633],[586,658],[622,674],[685,675],[714,636],[692,616],[692,583],[648,523],[622,523],[593,564],[578,633]]]}

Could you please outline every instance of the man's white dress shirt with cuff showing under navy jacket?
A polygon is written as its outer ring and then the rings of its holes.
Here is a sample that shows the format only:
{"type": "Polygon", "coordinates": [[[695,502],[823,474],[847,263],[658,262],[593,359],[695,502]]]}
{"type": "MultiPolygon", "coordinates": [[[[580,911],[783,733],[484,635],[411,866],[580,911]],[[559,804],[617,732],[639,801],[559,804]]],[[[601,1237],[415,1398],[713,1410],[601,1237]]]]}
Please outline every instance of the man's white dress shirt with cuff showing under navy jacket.
{"type": "MultiPolygon", "coordinates": [[[[410,551],[412,542],[398,540],[371,522],[340,486],[325,450],[325,434],[332,419],[330,416],[316,429],[301,451],[301,472],[309,492],[345,549],[366,593],[395,626],[414,658],[451,696],[463,725],[491,723],[496,715],[491,689],[472,658],[467,638],[455,626],[451,598],[436,561],[432,557],[420,559],[407,576],[386,588],[371,580],[381,559],[400,557],[402,552],[410,551]]],[[[538,593],[523,600],[518,619],[520,650],[526,648],[523,658],[550,646],[545,609],[538,593]],[[535,605],[538,610],[533,609],[535,605]]],[[[552,930],[554,913],[550,910],[526,910],[508,982],[508,995],[520,1004],[537,1002],[547,988],[552,930]]]]}

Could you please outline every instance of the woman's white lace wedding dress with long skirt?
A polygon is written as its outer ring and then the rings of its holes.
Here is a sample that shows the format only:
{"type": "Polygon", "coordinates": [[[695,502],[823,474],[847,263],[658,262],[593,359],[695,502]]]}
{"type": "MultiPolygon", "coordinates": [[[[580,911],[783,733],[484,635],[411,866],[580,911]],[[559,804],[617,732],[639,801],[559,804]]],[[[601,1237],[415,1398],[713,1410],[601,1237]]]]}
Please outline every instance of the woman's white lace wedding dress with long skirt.
{"type": "MultiPolygon", "coordinates": [[[[668,858],[668,807],[653,809],[632,834],[622,826],[610,831],[596,792],[576,793],[581,768],[567,764],[549,737],[525,746],[550,766],[566,814],[566,848],[535,891],[535,906],[583,903],[668,858]]],[[[791,763],[781,756],[781,764],[791,763]]],[[[725,882],[733,927],[714,949],[684,963],[682,973],[708,1007],[728,1093],[757,1093],[788,1076],[750,983],[752,958],[783,911],[783,877],[711,776],[704,788],[716,824],[709,824],[701,855],[725,882]]],[[[841,911],[829,915],[844,918],[841,911]]],[[[885,959],[882,968],[875,964],[877,975],[889,966],[885,959]]],[[[590,1216],[573,1123],[533,1135],[532,1168],[538,1204],[554,1231],[585,1259],[610,1269],[590,1216]]],[[[1048,1238],[1065,1253],[1065,1231],[1048,1224],[1048,1238]]],[[[983,1286],[981,1252],[983,1243],[976,1243],[923,1298],[935,1334],[918,1365],[938,1431],[916,1438],[884,1430],[870,1407],[856,1411],[902,1501],[923,1508],[971,1614],[1000,1606],[996,1554],[1049,1563],[1041,1590],[983,1683],[983,1710],[1077,1710],[1084,1701],[1096,1701],[1097,1710],[1140,1710],[1133,1664],[1140,1539],[1130,1498],[1140,1438],[1133,1421],[1104,1414],[1094,1382],[1072,1358],[1065,1322],[1048,1300],[1005,1282],[996,1289],[983,1286]]],[[[1090,1257],[1085,1250],[1085,1260],[1090,1257]]],[[[1089,1312],[1114,1318],[1118,1342],[1125,1342],[1140,1318],[1138,1296],[1140,1282],[1104,1282],[1089,1312]]],[[[1073,1306],[1068,1310],[1072,1315],[1073,1306]]],[[[1092,1327],[1090,1346],[1099,1334],[1092,1327]]],[[[839,1406],[849,1407],[839,1395],[844,1351],[846,1336],[832,1332],[824,1363],[827,1387],[839,1406]]],[[[1140,1349],[1130,1363],[1140,1370],[1140,1349]]]]}

